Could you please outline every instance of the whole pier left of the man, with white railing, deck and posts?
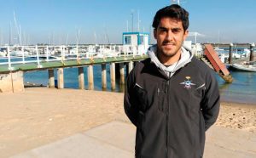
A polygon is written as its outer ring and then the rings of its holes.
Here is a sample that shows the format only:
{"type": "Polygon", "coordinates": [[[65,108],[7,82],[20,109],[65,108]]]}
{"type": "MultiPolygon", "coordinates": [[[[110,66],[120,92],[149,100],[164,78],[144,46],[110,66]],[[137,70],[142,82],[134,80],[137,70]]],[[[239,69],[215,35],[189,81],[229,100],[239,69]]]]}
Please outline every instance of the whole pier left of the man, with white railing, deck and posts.
{"type": "Polygon", "coordinates": [[[0,62],[1,80],[5,81],[1,85],[1,91],[19,91],[23,86],[23,73],[28,71],[43,71],[49,73],[49,87],[64,88],[64,71],[69,67],[79,68],[79,88],[84,89],[84,68],[88,72],[88,89],[94,89],[93,65],[102,65],[102,88],[107,88],[107,70],[106,65],[110,65],[111,88],[115,89],[115,76],[119,74],[121,84],[125,84],[125,70],[128,74],[134,63],[148,58],[145,51],[139,48],[123,46],[87,46],[87,47],[66,47],[55,46],[54,48],[46,47],[7,47],[7,58],[0,62]],[[34,49],[35,52],[25,52],[28,48],[34,49]],[[49,50],[60,48],[59,53],[54,55],[49,50]],[[73,48],[75,51],[72,52],[73,48]],[[100,50],[96,52],[96,49],[100,50]],[[83,50],[84,49],[84,50],[83,50]],[[10,56],[12,52],[21,50],[20,56],[10,56]],[[26,55],[25,55],[26,54],[26,55]],[[126,66],[126,68],[125,68],[126,66]],[[57,69],[57,85],[55,85],[54,70],[57,69]],[[12,81],[12,82],[9,82],[12,81]],[[6,90],[5,90],[6,89],[6,90]]]}

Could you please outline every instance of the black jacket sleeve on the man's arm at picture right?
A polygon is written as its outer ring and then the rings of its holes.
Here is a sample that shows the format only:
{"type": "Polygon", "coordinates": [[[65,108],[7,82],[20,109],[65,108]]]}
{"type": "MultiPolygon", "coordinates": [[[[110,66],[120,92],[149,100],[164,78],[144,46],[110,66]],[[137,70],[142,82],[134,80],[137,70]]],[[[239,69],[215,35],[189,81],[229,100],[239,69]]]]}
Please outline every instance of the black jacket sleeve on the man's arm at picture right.
{"type": "Polygon", "coordinates": [[[210,70],[207,74],[206,91],[202,99],[201,110],[205,120],[205,130],[212,126],[218,118],[219,112],[218,82],[210,70]]]}

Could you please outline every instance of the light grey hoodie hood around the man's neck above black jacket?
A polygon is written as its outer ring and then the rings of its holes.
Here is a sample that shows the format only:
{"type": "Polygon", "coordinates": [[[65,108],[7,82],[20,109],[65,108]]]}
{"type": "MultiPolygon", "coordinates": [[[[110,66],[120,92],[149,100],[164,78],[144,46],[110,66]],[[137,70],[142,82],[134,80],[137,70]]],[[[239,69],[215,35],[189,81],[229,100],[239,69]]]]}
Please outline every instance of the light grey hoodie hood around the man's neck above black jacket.
{"type": "Polygon", "coordinates": [[[173,65],[166,66],[163,65],[160,60],[157,58],[157,45],[153,45],[148,48],[148,56],[151,59],[151,62],[154,63],[161,71],[164,71],[167,76],[171,77],[177,70],[182,68],[184,65],[187,65],[193,58],[193,54],[189,48],[182,47],[181,58],[174,63],[173,65]]]}

